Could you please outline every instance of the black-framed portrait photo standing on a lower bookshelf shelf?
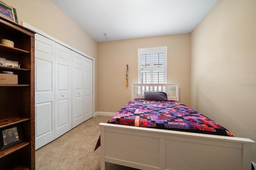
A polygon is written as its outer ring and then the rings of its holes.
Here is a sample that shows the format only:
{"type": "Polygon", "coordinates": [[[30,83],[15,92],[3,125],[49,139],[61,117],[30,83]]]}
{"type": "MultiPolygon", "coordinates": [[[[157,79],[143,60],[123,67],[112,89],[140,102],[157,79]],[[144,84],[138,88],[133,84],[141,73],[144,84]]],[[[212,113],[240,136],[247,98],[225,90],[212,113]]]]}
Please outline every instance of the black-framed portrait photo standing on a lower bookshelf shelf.
{"type": "Polygon", "coordinates": [[[6,149],[24,141],[22,125],[10,125],[0,129],[0,150],[6,149]]]}

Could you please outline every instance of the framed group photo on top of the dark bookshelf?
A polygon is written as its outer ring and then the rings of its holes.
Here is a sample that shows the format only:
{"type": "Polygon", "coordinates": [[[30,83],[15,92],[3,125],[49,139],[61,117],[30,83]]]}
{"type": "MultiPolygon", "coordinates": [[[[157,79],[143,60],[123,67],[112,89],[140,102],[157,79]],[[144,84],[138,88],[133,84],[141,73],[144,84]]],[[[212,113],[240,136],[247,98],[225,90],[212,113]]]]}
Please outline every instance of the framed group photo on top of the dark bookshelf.
{"type": "Polygon", "coordinates": [[[0,16],[18,23],[16,9],[0,1],[0,16]]]}

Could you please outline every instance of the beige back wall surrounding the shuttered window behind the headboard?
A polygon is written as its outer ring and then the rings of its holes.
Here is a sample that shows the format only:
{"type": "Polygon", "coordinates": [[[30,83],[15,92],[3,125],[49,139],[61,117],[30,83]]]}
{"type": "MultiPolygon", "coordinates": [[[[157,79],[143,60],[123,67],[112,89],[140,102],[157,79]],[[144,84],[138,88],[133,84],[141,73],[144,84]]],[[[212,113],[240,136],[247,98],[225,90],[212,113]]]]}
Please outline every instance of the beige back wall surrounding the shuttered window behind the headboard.
{"type": "Polygon", "coordinates": [[[126,89],[138,83],[138,49],[168,47],[168,83],[180,84],[180,102],[190,106],[190,34],[98,43],[98,111],[116,112],[131,100],[126,89]]]}

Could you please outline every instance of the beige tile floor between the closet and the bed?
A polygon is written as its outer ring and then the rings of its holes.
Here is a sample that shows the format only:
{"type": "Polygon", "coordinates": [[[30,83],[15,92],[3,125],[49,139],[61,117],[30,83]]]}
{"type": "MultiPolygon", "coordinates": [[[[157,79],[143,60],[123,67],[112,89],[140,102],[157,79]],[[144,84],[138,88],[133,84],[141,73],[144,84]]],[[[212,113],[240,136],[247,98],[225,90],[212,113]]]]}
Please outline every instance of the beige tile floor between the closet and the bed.
{"type": "MultiPolygon", "coordinates": [[[[96,116],[36,150],[36,170],[100,170],[100,147],[94,147],[100,135],[100,122],[109,116],[96,116]]],[[[137,170],[106,163],[106,170],[137,170]]]]}

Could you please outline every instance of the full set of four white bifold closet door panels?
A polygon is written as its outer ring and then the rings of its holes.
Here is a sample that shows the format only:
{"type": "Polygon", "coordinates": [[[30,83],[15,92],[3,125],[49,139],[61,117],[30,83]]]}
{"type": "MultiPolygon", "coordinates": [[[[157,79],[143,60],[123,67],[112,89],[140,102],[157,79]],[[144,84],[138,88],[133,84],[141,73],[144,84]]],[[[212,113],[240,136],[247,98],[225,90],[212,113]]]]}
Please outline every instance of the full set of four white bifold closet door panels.
{"type": "Polygon", "coordinates": [[[36,149],[93,117],[93,60],[35,35],[36,149]]]}

